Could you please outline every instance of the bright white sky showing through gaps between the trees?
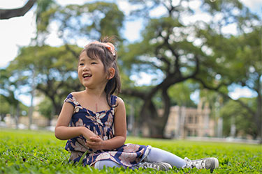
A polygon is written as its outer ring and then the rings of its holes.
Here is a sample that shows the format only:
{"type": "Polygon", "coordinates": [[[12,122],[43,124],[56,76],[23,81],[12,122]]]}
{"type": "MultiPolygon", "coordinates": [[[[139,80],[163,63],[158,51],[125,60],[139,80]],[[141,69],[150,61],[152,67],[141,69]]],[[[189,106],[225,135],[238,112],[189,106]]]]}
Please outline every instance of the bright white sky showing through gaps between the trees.
{"type": "MultiPolygon", "coordinates": [[[[115,0],[119,4],[119,8],[124,11],[124,13],[129,13],[131,10],[129,4],[126,0],[115,0]]],[[[174,0],[175,2],[176,0],[174,0]]],[[[192,0],[194,1],[194,0],[192,0]]],[[[217,0],[222,1],[222,0],[217,0]]],[[[241,0],[248,6],[252,11],[262,14],[262,3],[261,0],[241,0]]],[[[27,0],[12,0],[0,1],[0,8],[20,8],[24,6],[27,0]]],[[[72,0],[57,0],[61,5],[66,5],[72,3],[72,0]]],[[[74,0],[73,3],[82,4],[86,2],[85,0],[74,0]]],[[[161,12],[157,10],[154,15],[161,12]]],[[[201,16],[198,16],[201,17],[201,16]]],[[[55,26],[54,26],[55,27],[55,26]]],[[[29,45],[31,38],[35,35],[35,23],[34,23],[34,12],[30,10],[23,17],[14,17],[11,19],[0,20],[0,68],[6,68],[8,63],[12,61],[17,56],[17,51],[21,46],[29,45]]],[[[140,38],[140,30],[142,29],[142,24],[140,21],[126,22],[124,28],[124,36],[129,41],[135,41],[140,38]],[[136,26],[136,27],[132,27],[136,26]]],[[[233,33],[234,29],[232,27],[226,29],[229,33],[233,33]]],[[[61,40],[57,38],[56,33],[51,33],[48,38],[48,44],[52,46],[61,45],[61,40]]],[[[79,45],[84,46],[84,42],[80,42],[79,45]]],[[[147,79],[150,81],[148,74],[141,74],[143,81],[147,79]]],[[[140,82],[138,81],[138,84],[140,82]]],[[[249,97],[252,96],[252,92],[247,88],[235,88],[235,92],[232,93],[232,97],[237,99],[238,97],[249,97]]]]}

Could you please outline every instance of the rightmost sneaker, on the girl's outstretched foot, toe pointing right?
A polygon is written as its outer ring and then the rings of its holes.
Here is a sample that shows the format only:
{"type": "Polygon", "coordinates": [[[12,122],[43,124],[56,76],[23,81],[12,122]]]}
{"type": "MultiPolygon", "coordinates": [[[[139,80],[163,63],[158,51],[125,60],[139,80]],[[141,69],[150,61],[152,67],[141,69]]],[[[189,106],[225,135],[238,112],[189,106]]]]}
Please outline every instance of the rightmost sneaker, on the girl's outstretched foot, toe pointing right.
{"type": "Polygon", "coordinates": [[[211,173],[213,172],[214,168],[217,168],[219,166],[219,161],[216,158],[203,158],[203,159],[196,159],[196,160],[190,160],[187,157],[184,158],[184,161],[186,162],[187,166],[184,168],[206,168],[210,169],[211,173]]]}

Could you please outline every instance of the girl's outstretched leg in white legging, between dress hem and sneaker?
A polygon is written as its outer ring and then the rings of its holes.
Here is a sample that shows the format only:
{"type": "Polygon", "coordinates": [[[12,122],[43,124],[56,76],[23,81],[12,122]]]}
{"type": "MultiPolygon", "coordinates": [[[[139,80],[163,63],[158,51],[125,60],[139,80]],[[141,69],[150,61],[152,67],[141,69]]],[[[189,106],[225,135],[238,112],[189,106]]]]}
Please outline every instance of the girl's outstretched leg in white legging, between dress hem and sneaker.
{"type": "Polygon", "coordinates": [[[176,166],[177,168],[182,168],[187,166],[184,159],[177,157],[173,153],[161,150],[159,148],[152,148],[150,153],[145,158],[146,162],[166,162],[171,166],[176,166]]]}

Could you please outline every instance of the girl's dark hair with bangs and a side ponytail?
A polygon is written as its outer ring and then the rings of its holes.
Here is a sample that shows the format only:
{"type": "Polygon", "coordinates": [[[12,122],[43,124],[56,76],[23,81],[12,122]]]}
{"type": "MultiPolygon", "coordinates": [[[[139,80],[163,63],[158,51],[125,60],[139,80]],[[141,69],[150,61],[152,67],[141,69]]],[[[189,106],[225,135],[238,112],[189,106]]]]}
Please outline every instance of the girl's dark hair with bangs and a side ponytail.
{"type": "MultiPolygon", "coordinates": [[[[105,38],[101,38],[100,42],[110,42],[114,44],[114,38],[109,38],[107,36],[105,38]]],[[[117,66],[117,52],[115,52],[115,56],[113,56],[113,54],[105,46],[95,43],[87,45],[85,49],[82,50],[82,52],[86,52],[89,58],[99,58],[103,63],[105,72],[107,72],[109,68],[115,69],[115,76],[112,77],[112,79],[110,79],[105,86],[106,101],[108,102],[108,105],[112,107],[110,100],[111,95],[121,92],[120,74],[117,66]]]]}

